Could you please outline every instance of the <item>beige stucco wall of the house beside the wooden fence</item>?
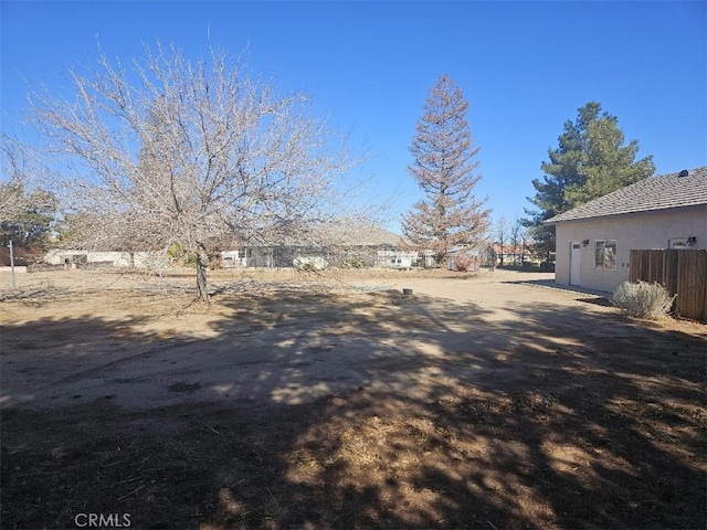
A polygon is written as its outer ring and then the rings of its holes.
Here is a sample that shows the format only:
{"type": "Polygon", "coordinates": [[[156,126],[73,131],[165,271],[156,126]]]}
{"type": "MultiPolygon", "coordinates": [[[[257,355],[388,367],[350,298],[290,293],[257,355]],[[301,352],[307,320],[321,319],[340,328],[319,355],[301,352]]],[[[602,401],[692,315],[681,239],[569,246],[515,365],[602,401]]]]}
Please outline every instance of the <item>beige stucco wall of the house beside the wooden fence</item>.
{"type": "Polygon", "coordinates": [[[668,241],[695,236],[693,248],[707,248],[707,205],[654,211],[611,218],[566,221],[556,225],[556,282],[570,283],[571,242],[589,240],[581,247],[580,286],[613,292],[629,279],[629,256],[633,248],[667,248],[668,241]],[[616,269],[594,267],[594,242],[616,241],[616,269]]]}

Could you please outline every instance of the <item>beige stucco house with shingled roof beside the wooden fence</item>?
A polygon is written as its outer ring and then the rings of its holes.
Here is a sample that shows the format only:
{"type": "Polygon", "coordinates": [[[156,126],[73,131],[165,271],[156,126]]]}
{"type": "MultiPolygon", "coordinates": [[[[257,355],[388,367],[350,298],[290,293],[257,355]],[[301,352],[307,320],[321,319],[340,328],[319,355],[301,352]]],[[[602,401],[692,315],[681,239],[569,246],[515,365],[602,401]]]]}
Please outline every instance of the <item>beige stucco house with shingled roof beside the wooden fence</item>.
{"type": "Polygon", "coordinates": [[[546,221],[556,283],[613,292],[631,250],[707,248],[707,167],[651,177],[546,221]]]}

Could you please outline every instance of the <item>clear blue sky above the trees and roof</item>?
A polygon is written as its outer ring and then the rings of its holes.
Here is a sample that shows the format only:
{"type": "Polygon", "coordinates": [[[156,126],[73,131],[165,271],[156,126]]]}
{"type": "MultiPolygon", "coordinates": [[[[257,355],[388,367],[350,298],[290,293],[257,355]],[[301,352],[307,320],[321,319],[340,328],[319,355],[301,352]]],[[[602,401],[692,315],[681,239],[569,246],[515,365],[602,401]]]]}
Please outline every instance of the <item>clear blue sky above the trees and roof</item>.
{"type": "Polygon", "coordinates": [[[590,100],[619,118],[657,174],[707,166],[707,2],[8,1],[2,0],[2,130],[20,134],[27,83],[59,89],[97,55],[157,40],[194,59],[209,42],[283,92],[305,91],[389,201],[388,227],[421,198],[405,167],[429,88],[447,74],[468,121],[493,218],[524,215],[566,120],[590,100]]]}

